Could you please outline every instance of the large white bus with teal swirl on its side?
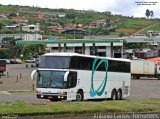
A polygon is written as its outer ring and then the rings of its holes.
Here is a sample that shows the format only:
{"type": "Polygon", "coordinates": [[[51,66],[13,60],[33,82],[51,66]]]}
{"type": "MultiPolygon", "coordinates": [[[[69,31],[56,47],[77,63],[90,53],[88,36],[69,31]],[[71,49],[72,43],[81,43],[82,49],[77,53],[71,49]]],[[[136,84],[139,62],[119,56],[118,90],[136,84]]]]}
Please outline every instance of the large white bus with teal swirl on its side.
{"type": "MultiPolygon", "coordinates": [[[[35,75],[36,74],[36,75],[35,75]]],[[[130,94],[130,60],[77,53],[42,55],[36,78],[37,98],[120,100],[130,94]]]]}

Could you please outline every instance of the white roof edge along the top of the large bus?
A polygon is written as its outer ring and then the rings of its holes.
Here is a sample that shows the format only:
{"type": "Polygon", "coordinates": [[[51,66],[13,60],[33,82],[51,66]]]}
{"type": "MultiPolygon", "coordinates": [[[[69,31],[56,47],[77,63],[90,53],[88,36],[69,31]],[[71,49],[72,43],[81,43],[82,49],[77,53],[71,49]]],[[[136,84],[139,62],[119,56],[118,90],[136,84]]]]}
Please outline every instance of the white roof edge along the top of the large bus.
{"type": "Polygon", "coordinates": [[[106,59],[117,60],[117,61],[130,62],[129,59],[124,59],[124,58],[101,57],[101,56],[95,56],[95,55],[84,55],[84,54],[68,53],[68,52],[46,53],[42,56],[81,56],[81,57],[91,57],[91,58],[98,57],[98,58],[106,58],[106,59]]]}

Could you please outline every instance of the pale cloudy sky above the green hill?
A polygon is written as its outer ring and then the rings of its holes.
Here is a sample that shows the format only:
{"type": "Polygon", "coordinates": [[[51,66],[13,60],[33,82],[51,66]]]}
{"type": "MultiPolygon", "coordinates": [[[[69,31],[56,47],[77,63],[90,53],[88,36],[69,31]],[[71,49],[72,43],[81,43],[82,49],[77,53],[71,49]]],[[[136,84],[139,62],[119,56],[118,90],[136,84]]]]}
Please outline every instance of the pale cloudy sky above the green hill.
{"type": "Polygon", "coordinates": [[[160,18],[159,0],[0,0],[0,4],[110,11],[112,14],[133,17],[145,17],[146,9],[149,9],[154,12],[154,18],[160,18]]]}

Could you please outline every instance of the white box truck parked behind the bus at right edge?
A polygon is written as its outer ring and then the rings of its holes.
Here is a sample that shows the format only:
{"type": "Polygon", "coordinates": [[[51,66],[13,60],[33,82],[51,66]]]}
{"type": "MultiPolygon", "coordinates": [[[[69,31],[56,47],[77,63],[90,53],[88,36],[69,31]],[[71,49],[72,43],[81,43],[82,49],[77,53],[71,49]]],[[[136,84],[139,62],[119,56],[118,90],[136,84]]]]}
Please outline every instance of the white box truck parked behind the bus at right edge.
{"type": "Polygon", "coordinates": [[[131,60],[131,77],[153,77],[160,79],[160,66],[157,62],[146,60],[131,60]]]}

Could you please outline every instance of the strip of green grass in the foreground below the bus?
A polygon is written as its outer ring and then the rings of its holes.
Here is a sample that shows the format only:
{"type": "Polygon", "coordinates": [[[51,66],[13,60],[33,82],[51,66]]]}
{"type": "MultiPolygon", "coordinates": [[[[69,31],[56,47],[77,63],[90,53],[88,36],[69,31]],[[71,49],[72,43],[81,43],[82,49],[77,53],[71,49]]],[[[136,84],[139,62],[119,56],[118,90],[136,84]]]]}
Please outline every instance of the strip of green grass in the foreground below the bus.
{"type": "Polygon", "coordinates": [[[0,103],[0,115],[45,114],[93,114],[160,112],[160,99],[137,99],[121,101],[49,102],[32,104],[26,102],[0,103]]]}

